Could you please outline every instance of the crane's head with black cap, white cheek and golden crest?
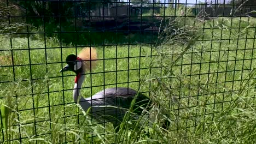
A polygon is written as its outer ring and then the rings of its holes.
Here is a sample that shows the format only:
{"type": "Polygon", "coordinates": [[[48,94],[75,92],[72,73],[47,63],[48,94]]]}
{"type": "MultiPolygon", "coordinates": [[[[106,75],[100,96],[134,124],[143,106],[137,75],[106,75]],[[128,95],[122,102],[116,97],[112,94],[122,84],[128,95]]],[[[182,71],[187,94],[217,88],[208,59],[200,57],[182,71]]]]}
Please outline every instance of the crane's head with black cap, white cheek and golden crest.
{"type": "Polygon", "coordinates": [[[84,48],[78,56],[73,54],[66,58],[67,65],[63,67],[60,72],[73,71],[75,74],[85,73],[96,66],[97,52],[94,48],[84,48]]]}

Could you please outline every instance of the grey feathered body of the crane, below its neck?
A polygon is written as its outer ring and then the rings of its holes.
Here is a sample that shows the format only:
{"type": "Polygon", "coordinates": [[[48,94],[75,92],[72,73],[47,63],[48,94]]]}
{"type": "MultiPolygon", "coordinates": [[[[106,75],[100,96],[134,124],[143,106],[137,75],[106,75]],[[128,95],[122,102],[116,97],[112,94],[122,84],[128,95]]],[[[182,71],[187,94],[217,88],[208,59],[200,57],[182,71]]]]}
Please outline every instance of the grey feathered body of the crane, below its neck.
{"type": "MultiPolygon", "coordinates": [[[[90,109],[92,118],[100,123],[111,122],[114,127],[118,127],[123,121],[125,113],[129,110],[136,94],[137,92],[131,88],[107,88],[92,95],[90,98],[80,100],[80,105],[86,105],[83,103],[87,101],[87,105],[92,106],[90,109]]],[[[138,93],[135,104],[133,105],[134,113],[136,113],[137,116],[141,115],[143,111],[141,107],[146,108],[148,103],[149,98],[138,93]]],[[[88,110],[87,106],[82,106],[82,108],[84,111],[88,110]]],[[[133,118],[136,119],[137,116],[133,115],[133,118]]]]}

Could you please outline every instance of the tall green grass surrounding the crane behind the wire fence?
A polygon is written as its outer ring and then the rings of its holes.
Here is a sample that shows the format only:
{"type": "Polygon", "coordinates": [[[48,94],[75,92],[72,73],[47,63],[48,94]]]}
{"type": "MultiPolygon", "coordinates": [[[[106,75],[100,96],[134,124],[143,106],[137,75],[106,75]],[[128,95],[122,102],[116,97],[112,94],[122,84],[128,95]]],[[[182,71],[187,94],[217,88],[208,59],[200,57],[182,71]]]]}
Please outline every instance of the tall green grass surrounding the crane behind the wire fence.
{"type": "MultiPolygon", "coordinates": [[[[233,19],[232,29],[231,19],[219,18],[214,24],[207,21],[204,28],[209,29],[204,31],[203,24],[196,21],[193,28],[203,37],[184,46],[166,38],[165,45],[157,49],[147,45],[96,47],[100,60],[92,74],[86,74],[82,95],[90,97],[107,87],[141,87],[155,102],[152,116],[161,119],[169,114],[168,131],[160,128],[156,118],[148,127],[124,127],[118,137],[123,143],[255,143],[255,23],[253,19],[240,21],[233,19]],[[238,29],[239,25],[246,28],[238,29]],[[160,52],[164,56],[150,57],[160,52]],[[162,68],[152,68],[159,66],[162,68]],[[149,136],[143,131],[149,131],[149,136]]],[[[183,25],[194,23],[187,20],[183,25]]],[[[1,109],[5,117],[1,116],[8,119],[1,127],[5,143],[19,143],[19,133],[28,137],[22,143],[91,143],[92,135],[94,143],[115,141],[112,125],[91,125],[96,122],[73,104],[74,74],[63,73],[62,77],[59,62],[76,51],[74,44],[63,45],[66,47],[55,48],[61,46],[59,40],[44,41],[34,35],[28,50],[26,38],[13,38],[11,53],[10,39],[0,37],[1,50],[6,50],[0,52],[0,65],[12,65],[11,55],[16,65],[0,67],[1,105],[5,105],[1,109]],[[14,78],[15,82],[4,82],[14,78]]]]}

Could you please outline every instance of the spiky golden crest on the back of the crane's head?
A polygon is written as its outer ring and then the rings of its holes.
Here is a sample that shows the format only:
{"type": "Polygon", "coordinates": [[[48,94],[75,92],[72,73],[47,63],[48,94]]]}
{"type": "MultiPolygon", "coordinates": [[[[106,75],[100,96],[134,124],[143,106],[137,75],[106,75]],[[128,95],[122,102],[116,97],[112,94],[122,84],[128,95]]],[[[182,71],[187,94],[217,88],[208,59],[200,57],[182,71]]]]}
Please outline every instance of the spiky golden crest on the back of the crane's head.
{"type": "Polygon", "coordinates": [[[90,71],[90,68],[94,69],[96,67],[97,52],[94,47],[85,47],[80,51],[78,57],[82,59],[85,71],[90,71]]]}

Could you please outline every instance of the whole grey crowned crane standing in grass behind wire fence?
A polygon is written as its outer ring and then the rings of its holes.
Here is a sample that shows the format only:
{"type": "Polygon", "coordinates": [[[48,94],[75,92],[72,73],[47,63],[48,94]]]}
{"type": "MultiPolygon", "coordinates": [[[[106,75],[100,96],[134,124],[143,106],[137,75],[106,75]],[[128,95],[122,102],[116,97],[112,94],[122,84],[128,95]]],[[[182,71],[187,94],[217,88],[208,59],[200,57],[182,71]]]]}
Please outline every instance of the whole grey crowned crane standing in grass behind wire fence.
{"type": "MultiPolygon", "coordinates": [[[[97,53],[94,48],[84,48],[78,56],[73,54],[68,55],[66,58],[67,65],[60,72],[69,70],[76,74],[73,89],[75,103],[79,103],[85,112],[90,108],[89,113],[96,121],[100,123],[111,122],[115,131],[118,132],[119,125],[123,121],[125,113],[129,110],[137,92],[131,88],[117,87],[104,89],[89,98],[80,96],[79,91],[85,79],[84,74],[96,66],[96,59],[97,53]]],[[[150,99],[146,95],[138,93],[135,104],[133,105],[133,110],[135,110],[133,112],[137,113],[138,116],[141,115],[143,109],[149,103],[150,99]]],[[[136,119],[136,116],[133,118],[136,119]]]]}

